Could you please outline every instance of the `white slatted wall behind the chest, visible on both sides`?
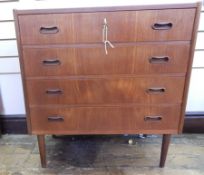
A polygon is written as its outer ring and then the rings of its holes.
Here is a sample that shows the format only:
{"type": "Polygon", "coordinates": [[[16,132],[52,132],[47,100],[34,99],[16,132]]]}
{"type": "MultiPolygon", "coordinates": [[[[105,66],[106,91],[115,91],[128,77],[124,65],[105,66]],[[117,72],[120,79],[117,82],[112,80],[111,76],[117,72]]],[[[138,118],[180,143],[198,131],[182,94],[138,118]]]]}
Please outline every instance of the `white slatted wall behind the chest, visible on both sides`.
{"type": "MultiPolygon", "coordinates": [[[[16,0],[11,2],[2,2],[0,0],[0,93],[3,101],[2,114],[25,114],[22,82],[19,68],[19,58],[16,45],[16,36],[13,21],[13,9],[17,7],[26,7],[30,5],[46,6],[46,3],[52,4],[52,7],[60,4],[57,0],[16,0]]],[[[62,1],[62,0],[61,0],[62,1]]],[[[131,1],[131,0],[130,0],[131,1]]],[[[65,3],[75,1],[64,1],[65,3]]],[[[79,2],[79,1],[78,1],[79,2]]],[[[82,2],[82,1],[81,1],[82,2]]],[[[98,1],[99,2],[99,1],[98,1]]],[[[116,2],[116,1],[106,1],[116,2]]],[[[124,3],[125,1],[117,1],[124,3]]],[[[132,1],[133,2],[133,1],[132,1]]],[[[134,1],[136,2],[136,1],[134,1]]],[[[141,1],[140,1],[141,2],[141,1]]],[[[143,2],[143,1],[142,1],[143,2]]],[[[153,1],[151,1],[153,2],[153,1]]],[[[157,1],[159,2],[159,1],[157,1]]],[[[169,2],[161,1],[160,3],[169,2]]],[[[176,2],[176,1],[175,1],[176,2]]],[[[102,1],[101,1],[102,3],[102,1]]],[[[61,2],[61,5],[63,3],[61,2]]],[[[74,4],[74,3],[73,3],[74,4]]],[[[84,5],[85,2],[83,2],[84,5]]],[[[77,4],[80,6],[79,4],[77,4]]],[[[76,3],[75,3],[76,6],[76,3]]],[[[191,76],[191,84],[187,111],[204,111],[204,8],[201,15],[199,26],[198,42],[196,45],[195,59],[193,63],[193,71],[191,76]]]]}

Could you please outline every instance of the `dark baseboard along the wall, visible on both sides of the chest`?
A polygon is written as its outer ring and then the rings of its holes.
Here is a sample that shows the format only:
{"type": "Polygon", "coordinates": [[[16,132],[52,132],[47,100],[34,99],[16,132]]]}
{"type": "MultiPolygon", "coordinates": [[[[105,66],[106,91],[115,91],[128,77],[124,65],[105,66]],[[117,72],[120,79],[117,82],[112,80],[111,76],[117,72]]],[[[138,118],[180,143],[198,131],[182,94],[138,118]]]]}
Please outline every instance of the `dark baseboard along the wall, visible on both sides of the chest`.
{"type": "MultiPolygon", "coordinates": [[[[3,134],[27,134],[25,115],[0,115],[0,129],[3,134]]],[[[184,133],[204,133],[204,112],[187,112],[184,133]]]]}

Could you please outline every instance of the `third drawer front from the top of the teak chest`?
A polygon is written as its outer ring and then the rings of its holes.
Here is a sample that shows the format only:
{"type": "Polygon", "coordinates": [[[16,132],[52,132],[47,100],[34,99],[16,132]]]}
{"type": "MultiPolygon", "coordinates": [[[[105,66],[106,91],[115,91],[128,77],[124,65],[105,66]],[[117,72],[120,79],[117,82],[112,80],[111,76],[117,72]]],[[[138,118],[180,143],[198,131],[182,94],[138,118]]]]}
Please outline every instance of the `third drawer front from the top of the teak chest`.
{"type": "Polygon", "coordinates": [[[30,79],[26,81],[30,105],[181,103],[183,77],[126,77],[30,79]]]}

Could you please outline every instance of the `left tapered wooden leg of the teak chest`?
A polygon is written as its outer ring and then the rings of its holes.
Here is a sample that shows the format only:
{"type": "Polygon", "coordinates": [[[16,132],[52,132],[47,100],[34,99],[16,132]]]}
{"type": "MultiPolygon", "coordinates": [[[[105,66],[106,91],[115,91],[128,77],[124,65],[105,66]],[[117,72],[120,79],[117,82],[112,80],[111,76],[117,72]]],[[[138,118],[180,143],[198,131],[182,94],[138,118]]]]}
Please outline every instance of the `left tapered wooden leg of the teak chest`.
{"type": "Polygon", "coordinates": [[[38,147],[40,152],[40,160],[42,168],[46,168],[46,149],[45,149],[45,135],[38,135],[38,147]]]}

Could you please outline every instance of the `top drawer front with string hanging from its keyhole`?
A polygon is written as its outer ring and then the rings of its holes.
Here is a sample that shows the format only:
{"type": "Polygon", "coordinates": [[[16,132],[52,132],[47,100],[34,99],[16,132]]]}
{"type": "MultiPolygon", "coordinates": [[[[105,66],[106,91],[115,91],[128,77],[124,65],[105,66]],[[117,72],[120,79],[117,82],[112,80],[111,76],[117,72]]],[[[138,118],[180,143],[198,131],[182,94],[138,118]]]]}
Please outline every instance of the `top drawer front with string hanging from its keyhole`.
{"type": "Polygon", "coordinates": [[[191,40],[195,9],[20,15],[23,44],[191,40]]]}

